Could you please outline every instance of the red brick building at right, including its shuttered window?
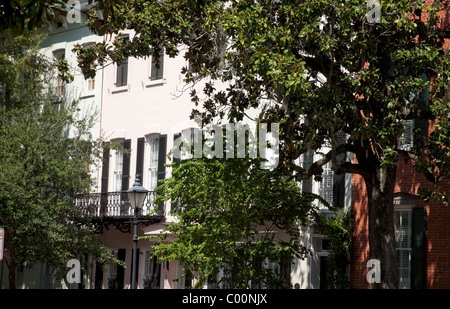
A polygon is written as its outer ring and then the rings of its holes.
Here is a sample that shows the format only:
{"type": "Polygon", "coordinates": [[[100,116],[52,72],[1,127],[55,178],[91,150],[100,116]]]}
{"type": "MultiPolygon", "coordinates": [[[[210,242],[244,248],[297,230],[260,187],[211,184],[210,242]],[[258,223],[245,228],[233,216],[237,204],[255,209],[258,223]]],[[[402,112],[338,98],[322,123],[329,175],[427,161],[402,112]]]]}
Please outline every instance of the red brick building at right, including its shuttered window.
{"type": "MultiPolygon", "coordinates": [[[[450,205],[425,203],[418,195],[419,187],[434,188],[411,162],[400,159],[395,186],[395,225],[401,288],[450,288],[450,205]]],[[[450,183],[437,186],[450,189],[450,183]]],[[[370,288],[366,267],[369,257],[367,194],[364,179],[353,176],[353,248],[351,287],[370,288]]],[[[382,265],[380,265],[383,267],[382,265]]]]}

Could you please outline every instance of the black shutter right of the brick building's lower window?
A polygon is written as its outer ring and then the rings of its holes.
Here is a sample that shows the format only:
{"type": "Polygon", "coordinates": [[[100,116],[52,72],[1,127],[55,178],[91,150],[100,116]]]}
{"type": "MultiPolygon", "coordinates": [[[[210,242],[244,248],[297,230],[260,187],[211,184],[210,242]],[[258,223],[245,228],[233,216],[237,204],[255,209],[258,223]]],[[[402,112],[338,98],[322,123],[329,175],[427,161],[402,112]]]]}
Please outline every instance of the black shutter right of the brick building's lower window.
{"type": "Polygon", "coordinates": [[[426,209],[412,208],[411,288],[425,288],[426,209]]]}

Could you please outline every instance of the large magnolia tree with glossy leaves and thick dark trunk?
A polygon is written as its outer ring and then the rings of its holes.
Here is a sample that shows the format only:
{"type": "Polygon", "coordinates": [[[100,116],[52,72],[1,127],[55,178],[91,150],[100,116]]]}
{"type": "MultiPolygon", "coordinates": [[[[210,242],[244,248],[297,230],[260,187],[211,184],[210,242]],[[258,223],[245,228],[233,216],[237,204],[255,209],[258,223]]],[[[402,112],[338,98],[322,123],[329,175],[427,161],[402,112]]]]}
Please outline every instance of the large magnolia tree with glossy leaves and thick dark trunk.
{"type": "MultiPolygon", "coordinates": [[[[397,288],[392,207],[397,162],[410,160],[435,184],[431,191],[448,179],[449,31],[439,15],[448,3],[370,3],[115,1],[102,18],[91,16],[91,29],[116,34],[127,28],[138,35],[78,51],[82,63],[95,58],[102,65],[157,54],[161,47],[175,56],[183,46],[190,63],[190,70],[183,70],[187,80],[206,80],[206,99],[192,92],[193,102],[203,103],[193,115],[239,121],[258,108],[260,121],[280,124],[284,173],[303,181],[320,176],[330,162],[336,174],[361,175],[370,258],[382,265],[376,287],[397,288]],[[373,10],[379,10],[379,19],[369,16],[373,10]],[[399,147],[408,121],[416,124],[413,146],[399,147]],[[345,133],[346,141],[338,143],[337,133],[345,133]],[[295,161],[308,150],[323,155],[304,169],[295,161]],[[355,159],[338,160],[343,153],[355,159]]],[[[85,74],[93,73],[90,67],[82,66],[85,74]]],[[[448,192],[432,193],[428,196],[449,200],[448,192]]]]}

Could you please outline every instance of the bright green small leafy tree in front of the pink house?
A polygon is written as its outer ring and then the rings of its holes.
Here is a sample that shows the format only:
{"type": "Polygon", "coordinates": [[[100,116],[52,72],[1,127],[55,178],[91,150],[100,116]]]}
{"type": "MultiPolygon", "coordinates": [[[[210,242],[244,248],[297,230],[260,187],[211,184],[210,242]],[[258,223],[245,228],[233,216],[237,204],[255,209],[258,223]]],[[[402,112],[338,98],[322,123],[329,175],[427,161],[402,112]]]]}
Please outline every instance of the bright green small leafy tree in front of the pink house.
{"type": "Polygon", "coordinates": [[[299,228],[315,215],[312,195],[302,195],[292,179],[261,169],[260,162],[182,161],[160,187],[160,198],[177,205],[172,214],[178,220],[162,233],[173,240],[160,239],[155,254],[178,260],[184,276],[195,274],[197,288],[208,281],[227,288],[289,288],[290,264],[308,254],[299,228]]]}

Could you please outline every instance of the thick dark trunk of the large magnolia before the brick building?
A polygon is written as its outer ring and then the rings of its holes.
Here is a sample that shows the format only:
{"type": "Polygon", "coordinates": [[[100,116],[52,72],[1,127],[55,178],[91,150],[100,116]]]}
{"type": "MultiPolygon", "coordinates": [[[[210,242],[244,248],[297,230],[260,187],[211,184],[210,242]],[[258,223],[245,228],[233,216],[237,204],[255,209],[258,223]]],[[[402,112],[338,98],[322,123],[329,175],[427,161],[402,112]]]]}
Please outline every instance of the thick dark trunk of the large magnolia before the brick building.
{"type": "Polygon", "coordinates": [[[367,187],[370,259],[380,263],[380,282],[373,288],[397,289],[397,253],[394,230],[394,187],[396,166],[379,167],[364,179],[367,187]]]}

